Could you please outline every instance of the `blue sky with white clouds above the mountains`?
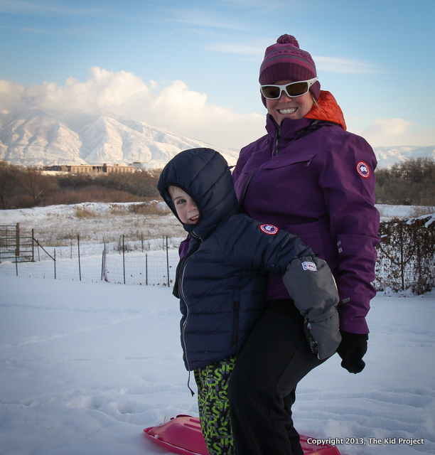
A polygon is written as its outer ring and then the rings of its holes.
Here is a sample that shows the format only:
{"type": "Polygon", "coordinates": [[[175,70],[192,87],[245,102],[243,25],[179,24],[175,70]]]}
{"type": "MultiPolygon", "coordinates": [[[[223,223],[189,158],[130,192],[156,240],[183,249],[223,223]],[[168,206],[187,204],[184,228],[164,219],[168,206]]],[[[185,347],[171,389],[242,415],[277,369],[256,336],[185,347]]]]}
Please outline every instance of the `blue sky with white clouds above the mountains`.
{"type": "Polygon", "coordinates": [[[435,145],[434,0],[0,0],[0,108],[99,108],[238,149],[264,134],[259,65],[283,33],[348,129],[435,145]]]}

